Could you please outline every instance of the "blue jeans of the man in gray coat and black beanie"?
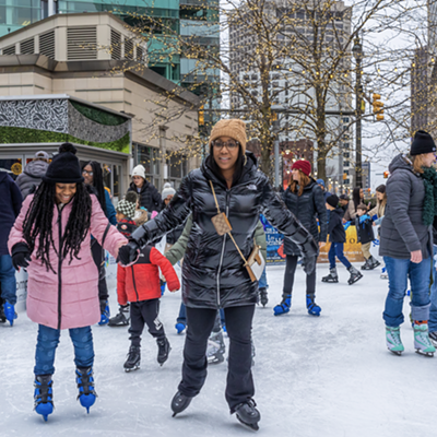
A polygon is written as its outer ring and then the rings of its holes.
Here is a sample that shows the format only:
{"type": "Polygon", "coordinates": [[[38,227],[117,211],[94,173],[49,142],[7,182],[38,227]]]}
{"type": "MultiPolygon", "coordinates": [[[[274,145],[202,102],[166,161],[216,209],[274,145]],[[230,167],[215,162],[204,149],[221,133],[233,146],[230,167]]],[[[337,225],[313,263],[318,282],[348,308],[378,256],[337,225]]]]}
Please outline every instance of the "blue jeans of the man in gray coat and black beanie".
{"type": "Polygon", "coordinates": [[[429,319],[429,280],[432,258],[424,259],[418,264],[409,259],[383,257],[389,275],[389,294],[386,299],[383,320],[388,327],[399,327],[403,323],[403,298],[406,283],[411,284],[411,317],[413,320],[429,319]]]}

